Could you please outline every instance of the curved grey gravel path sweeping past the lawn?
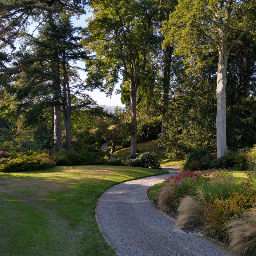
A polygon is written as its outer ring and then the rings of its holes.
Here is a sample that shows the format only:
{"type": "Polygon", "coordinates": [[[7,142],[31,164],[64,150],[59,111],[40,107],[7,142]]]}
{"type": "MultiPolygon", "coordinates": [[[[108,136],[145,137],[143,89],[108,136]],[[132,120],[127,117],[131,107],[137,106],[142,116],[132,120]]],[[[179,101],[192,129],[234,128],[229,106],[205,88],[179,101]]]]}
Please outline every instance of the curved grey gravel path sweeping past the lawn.
{"type": "Polygon", "coordinates": [[[174,228],[174,221],[148,200],[147,189],[170,174],[127,181],[109,188],[99,198],[96,219],[105,240],[119,256],[235,255],[221,245],[174,228]]]}

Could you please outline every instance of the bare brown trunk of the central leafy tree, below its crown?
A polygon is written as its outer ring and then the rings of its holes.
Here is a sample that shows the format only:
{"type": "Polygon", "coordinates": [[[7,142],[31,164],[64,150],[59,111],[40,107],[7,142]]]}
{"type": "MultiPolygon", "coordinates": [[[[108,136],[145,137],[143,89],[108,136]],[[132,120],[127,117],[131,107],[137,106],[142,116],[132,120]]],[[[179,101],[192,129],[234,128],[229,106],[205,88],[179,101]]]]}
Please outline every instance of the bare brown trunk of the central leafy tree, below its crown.
{"type": "Polygon", "coordinates": [[[130,108],[132,115],[131,155],[137,152],[136,90],[130,85],[130,108]]]}

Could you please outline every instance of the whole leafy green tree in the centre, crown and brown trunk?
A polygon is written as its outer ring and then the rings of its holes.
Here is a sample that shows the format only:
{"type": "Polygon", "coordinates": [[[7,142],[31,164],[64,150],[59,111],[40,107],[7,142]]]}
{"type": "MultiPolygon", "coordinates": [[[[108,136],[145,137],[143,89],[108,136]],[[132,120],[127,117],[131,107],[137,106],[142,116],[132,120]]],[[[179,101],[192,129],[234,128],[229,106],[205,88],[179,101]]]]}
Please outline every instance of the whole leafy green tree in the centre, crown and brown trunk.
{"type": "Polygon", "coordinates": [[[149,52],[154,50],[152,16],[147,1],[92,1],[93,18],[84,40],[95,55],[87,62],[87,83],[111,92],[119,74],[129,82],[131,113],[131,154],[137,151],[136,94],[147,76],[149,52]],[[104,84],[104,85],[103,85],[104,84]]]}

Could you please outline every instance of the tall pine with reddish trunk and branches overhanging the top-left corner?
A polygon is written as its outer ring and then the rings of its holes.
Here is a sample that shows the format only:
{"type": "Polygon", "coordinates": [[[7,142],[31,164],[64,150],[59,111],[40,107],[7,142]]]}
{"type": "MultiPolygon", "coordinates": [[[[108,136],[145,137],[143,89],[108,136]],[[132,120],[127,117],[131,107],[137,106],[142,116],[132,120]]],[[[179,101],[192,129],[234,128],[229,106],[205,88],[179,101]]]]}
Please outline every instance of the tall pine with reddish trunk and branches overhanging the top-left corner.
{"type": "MultiPolygon", "coordinates": [[[[0,20],[1,20],[1,36],[3,47],[10,46],[12,51],[15,50],[13,42],[21,31],[28,31],[31,21],[36,21],[40,27],[45,21],[54,22],[59,13],[66,10],[77,15],[85,13],[84,6],[88,4],[86,0],[73,1],[0,1],[0,20]],[[8,31],[8,33],[5,33],[8,31]]],[[[6,54],[0,53],[0,61],[5,58],[6,54]]],[[[55,92],[53,97],[55,97],[55,92]]],[[[54,150],[59,151],[62,148],[61,134],[61,113],[57,106],[54,106],[54,150]]]]}

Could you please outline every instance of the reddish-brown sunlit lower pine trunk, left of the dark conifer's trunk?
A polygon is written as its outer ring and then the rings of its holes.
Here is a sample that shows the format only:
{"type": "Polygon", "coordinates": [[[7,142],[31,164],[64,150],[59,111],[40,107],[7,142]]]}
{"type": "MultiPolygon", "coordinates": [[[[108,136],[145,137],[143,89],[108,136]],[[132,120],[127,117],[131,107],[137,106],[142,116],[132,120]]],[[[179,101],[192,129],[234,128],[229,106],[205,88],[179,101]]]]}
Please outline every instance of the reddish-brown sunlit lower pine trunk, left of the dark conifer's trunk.
{"type": "Polygon", "coordinates": [[[62,149],[62,127],[61,127],[61,111],[54,107],[54,152],[59,152],[62,149]]]}

